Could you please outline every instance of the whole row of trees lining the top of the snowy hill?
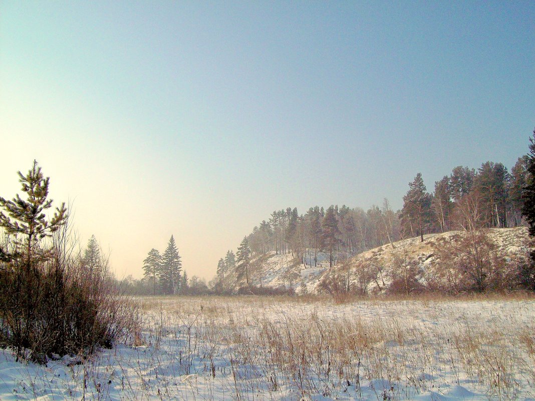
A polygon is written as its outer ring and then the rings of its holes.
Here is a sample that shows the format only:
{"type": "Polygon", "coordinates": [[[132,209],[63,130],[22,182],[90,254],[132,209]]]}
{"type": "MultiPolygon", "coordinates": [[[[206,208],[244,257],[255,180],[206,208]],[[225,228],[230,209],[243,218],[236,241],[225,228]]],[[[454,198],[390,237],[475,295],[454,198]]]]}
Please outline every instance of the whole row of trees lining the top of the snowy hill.
{"type": "Polygon", "coordinates": [[[332,267],[339,258],[385,244],[394,246],[402,238],[419,236],[423,241],[425,234],[450,230],[525,226],[522,194],[528,183],[529,160],[528,155],[519,157],[510,172],[492,161],[478,169],[457,166],[434,183],[432,192],[417,173],[398,211],[391,209],[386,198],[381,206],[366,211],[346,205],[326,210],[314,206],[304,214],[295,207],[273,211],[244,237],[237,262],[230,250],[219,260],[217,276],[223,279],[236,271],[248,282],[250,259],[268,252],[291,254],[304,267],[318,266],[318,252],[324,252],[332,267]]]}

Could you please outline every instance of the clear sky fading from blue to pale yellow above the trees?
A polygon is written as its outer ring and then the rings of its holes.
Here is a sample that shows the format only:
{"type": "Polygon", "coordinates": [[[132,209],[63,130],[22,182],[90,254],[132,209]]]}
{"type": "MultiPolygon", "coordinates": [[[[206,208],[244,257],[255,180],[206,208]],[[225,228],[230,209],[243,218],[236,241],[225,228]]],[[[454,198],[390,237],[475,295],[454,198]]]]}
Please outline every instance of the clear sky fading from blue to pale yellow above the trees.
{"type": "Polygon", "coordinates": [[[37,160],[83,244],[142,276],[274,210],[394,209],[535,127],[535,2],[0,0],[0,196],[37,160]]]}

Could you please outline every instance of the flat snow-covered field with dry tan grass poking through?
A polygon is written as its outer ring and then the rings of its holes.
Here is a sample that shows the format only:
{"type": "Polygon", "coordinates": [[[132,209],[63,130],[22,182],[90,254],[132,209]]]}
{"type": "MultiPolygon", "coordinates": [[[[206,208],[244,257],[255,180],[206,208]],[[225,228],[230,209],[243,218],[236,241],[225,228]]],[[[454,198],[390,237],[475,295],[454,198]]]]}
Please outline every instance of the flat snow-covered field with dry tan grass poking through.
{"type": "Polygon", "coordinates": [[[535,401],[534,300],[137,301],[136,347],[48,366],[0,350],[0,401],[535,401]]]}

